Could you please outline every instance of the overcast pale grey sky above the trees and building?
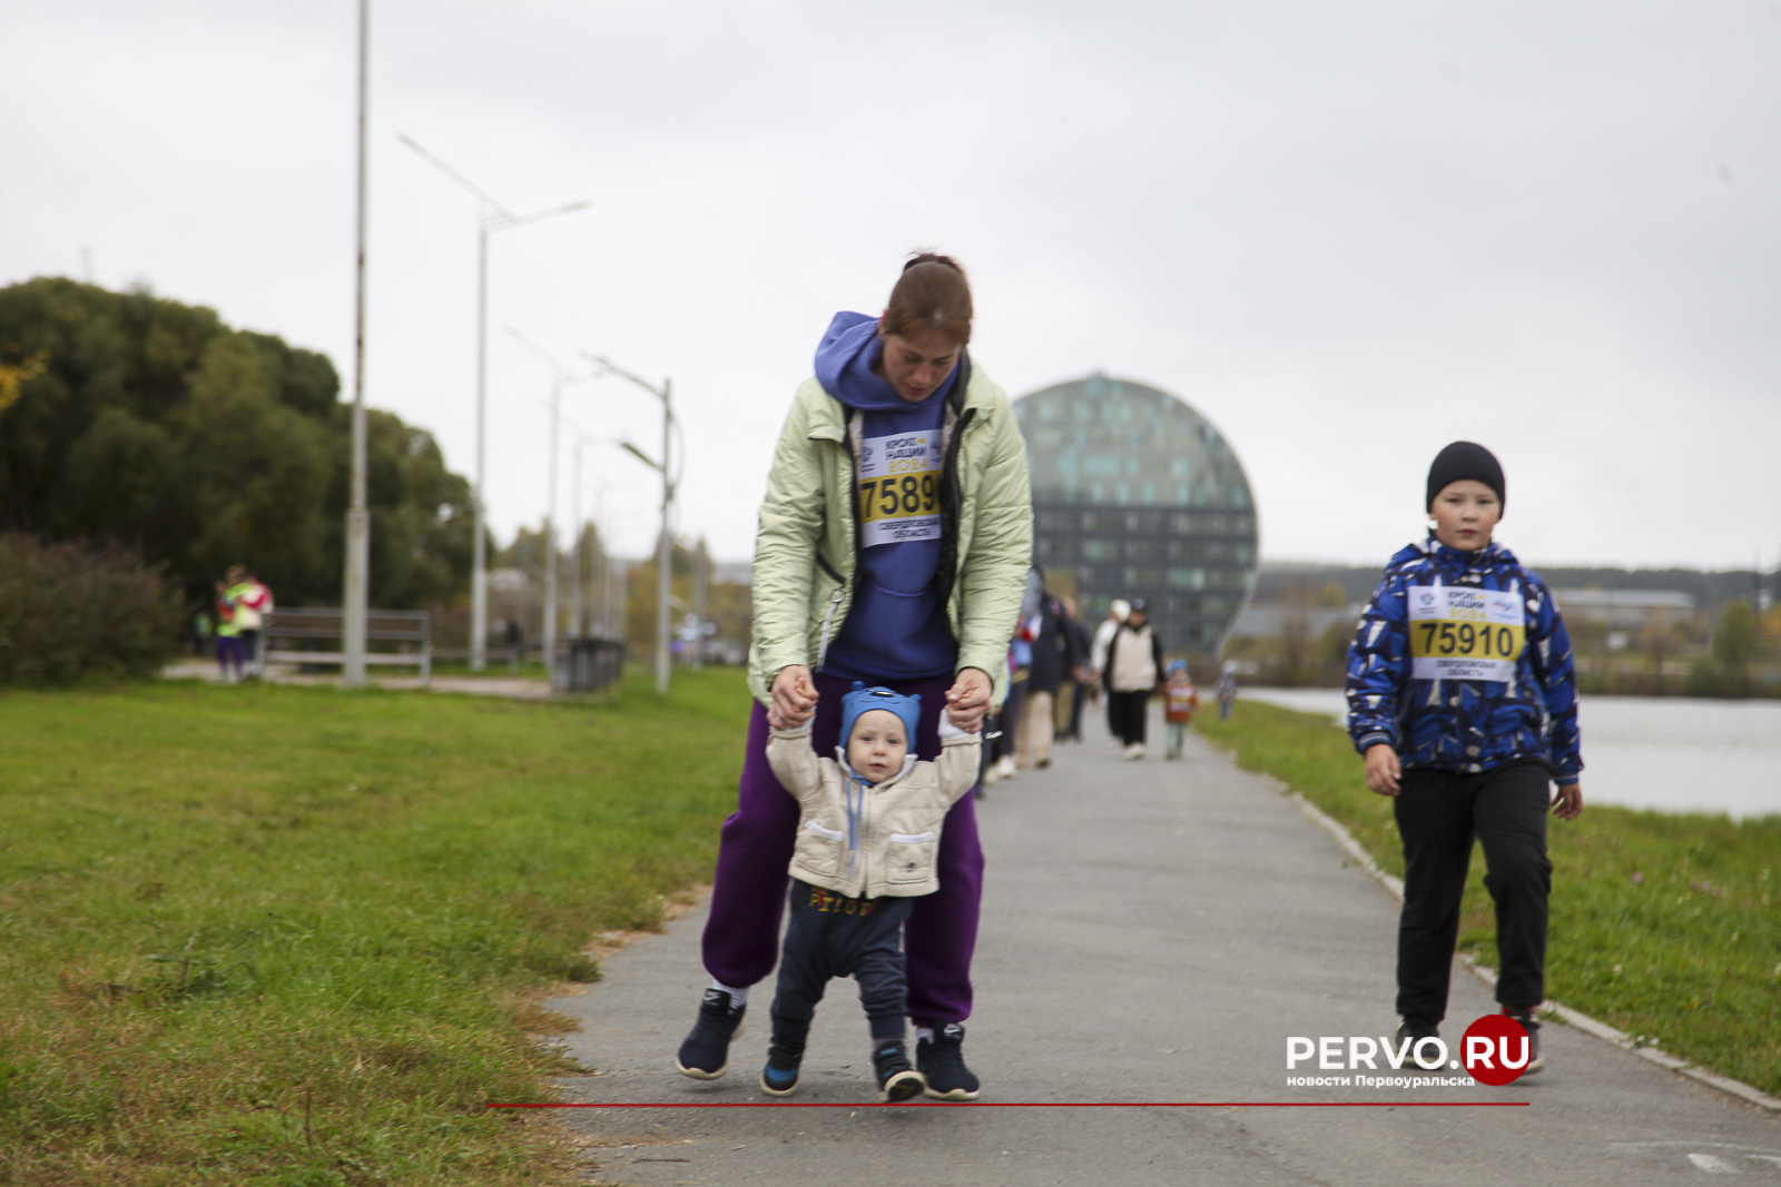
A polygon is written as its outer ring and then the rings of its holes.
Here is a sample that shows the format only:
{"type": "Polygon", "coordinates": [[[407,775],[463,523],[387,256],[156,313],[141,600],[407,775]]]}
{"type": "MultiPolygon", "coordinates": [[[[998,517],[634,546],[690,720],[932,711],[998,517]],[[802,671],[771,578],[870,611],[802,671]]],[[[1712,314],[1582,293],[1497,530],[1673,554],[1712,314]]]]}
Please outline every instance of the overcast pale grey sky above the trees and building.
{"type": "MultiPolygon", "coordinates": [[[[351,384],[354,4],[0,2],[0,283],[148,283],[351,384]],[[85,253],[85,254],[84,254],[85,253]]],[[[1380,562],[1450,440],[1535,564],[1781,557],[1781,5],[374,0],[367,400],[547,500],[550,372],[671,375],[680,529],[752,552],[830,315],[971,271],[1010,395],[1090,370],[1234,443],[1263,555],[1380,562]]],[[[654,534],[654,400],[568,388],[584,509],[654,534]]],[[[568,452],[561,473],[568,514],[568,452]]]]}

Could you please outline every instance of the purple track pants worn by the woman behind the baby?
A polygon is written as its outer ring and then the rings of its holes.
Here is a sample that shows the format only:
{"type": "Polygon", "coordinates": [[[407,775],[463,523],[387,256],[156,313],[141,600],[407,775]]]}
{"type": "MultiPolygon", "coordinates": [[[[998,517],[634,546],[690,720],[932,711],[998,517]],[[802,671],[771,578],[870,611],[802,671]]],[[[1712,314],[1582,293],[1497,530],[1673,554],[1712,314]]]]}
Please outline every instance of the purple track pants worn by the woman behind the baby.
{"type": "MultiPolygon", "coordinates": [[[[810,744],[817,755],[835,753],[841,733],[841,698],[851,680],[812,676],[821,698],[810,744]]],[[[940,755],[940,710],[951,676],[887,680],[901,694],[921,694],[915,755],[940,755]]],[[[748,723],[748,755],[736,797],[736,815],[723,822],[718,842],[718,877],[711,918],[702,940],[705,972],[727,986],[752,986],[773,972],[778,959],[780,920],[798,835],[798,801],[768,765],[768,712],[755,703],[748,723]]],[[[965,795],[946,813],[937,863],[940,888],[915,899],[903,927],[908,970],[908,1016],[915,1025],[964,1021],[971,1016],[971,954],[978,943],[978,902],[983,897],[983,847],[978,817],[965,795]]]]}

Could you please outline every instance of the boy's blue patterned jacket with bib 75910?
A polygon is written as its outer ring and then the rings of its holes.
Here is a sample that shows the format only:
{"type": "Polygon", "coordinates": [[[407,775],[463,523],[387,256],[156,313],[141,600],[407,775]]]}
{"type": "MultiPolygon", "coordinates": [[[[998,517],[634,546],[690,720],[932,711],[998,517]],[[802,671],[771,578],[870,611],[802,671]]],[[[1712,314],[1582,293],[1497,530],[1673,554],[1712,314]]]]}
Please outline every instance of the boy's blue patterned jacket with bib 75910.
{"type": "Polygon", "coordinates": [[[1583,769],[1571,635],[1546,584],[1501,545],[1428,539],[1386,566],[1348,644],[1348,733],[1405,767],[1491,771],[1539,758],[1583,769]]]}

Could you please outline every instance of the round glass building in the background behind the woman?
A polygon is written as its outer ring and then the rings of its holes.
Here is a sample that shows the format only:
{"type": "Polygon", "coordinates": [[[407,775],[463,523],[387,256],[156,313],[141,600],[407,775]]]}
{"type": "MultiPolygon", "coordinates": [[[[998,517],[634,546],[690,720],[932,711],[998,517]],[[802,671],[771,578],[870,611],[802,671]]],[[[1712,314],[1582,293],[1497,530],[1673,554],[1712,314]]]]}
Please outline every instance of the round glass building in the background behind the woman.
{"type": "Polygon", "coordinates": [[[1143,598],[1163,650],[1215,653],[1256,582],[1256,504],[1231,445],[1183,400],[1090,375],[1015,400],[1033,561],[1076,578],[1083,623],[1143,598]]]}

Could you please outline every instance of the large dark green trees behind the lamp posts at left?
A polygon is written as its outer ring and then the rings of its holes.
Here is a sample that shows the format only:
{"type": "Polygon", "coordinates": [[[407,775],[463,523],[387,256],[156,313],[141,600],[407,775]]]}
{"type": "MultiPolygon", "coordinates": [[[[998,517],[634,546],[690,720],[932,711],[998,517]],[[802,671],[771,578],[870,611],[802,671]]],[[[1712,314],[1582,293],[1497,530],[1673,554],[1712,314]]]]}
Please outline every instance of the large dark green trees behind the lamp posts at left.
{"type": "MultiPolygon", "coordinates": [[[[212,310],[62,278],[0,288],[0,527],[166,566],[191,602],[230,564],[285,605],[340,600],[351,418],[333,363],[212,310]]],[[[468,585],[470,486],[367,415],[370,600],[468,585]]]]}

